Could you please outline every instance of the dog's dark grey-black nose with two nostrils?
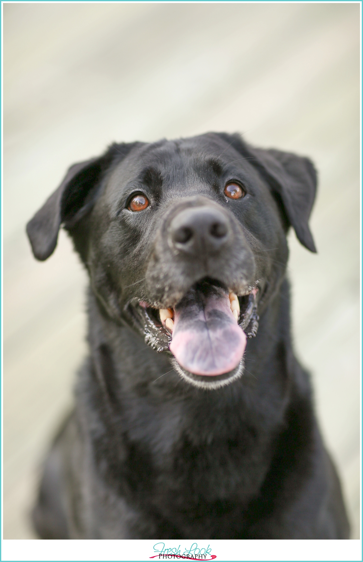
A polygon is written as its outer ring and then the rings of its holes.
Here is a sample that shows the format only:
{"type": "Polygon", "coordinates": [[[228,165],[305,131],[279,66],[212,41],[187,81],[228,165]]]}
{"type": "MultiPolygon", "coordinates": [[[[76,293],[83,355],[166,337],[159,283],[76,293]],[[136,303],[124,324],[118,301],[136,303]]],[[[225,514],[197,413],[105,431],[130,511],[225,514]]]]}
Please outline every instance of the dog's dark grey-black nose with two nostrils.
{"type": "Polygon", "coordinates": [[[171,221],[169,232],[172,245],[187,253],[217,252],[231,237],[228,219],[210,207],[181,211],[171,221]]]}

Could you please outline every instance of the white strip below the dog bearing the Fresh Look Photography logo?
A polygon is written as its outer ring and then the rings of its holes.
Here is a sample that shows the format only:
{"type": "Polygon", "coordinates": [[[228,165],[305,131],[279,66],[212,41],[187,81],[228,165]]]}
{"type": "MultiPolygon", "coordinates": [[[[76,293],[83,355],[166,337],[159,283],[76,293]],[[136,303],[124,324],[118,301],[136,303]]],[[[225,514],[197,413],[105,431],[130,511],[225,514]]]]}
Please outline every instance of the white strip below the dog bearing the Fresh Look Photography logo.
{"type": "MultiPolygon", "coordinates": [[[[76,540],[2,542],[2,560],[148,560],[155,554],[150,540],[76,540]]],[[[211,554],[219,560],[362,560],[359,540],[347,541],[164,541],[166,547],[190,549],[193,542],[200,548],[210,545],[211,554]]],[[[210,558],[210,557],[208,557],[210,558]]],[[[168,559],[160,559],[168,560],[168,559]]],[[[180,559],[182,560],[182,559],[180,559]]]]}

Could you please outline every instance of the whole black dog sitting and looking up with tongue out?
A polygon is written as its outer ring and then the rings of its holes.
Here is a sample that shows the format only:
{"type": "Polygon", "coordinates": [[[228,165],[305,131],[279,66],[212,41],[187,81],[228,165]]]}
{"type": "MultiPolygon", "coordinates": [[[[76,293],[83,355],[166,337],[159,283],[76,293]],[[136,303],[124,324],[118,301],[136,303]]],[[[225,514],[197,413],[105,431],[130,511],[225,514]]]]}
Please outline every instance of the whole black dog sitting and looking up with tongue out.
{"type": "Polygon", "coordinates": [[[45,465],[43,538],[348,538],[295,359],[290,225],[315,252],[307,158],[208,133],[113,144],[27,225],[88,269],[90,356],[45,465]]]}

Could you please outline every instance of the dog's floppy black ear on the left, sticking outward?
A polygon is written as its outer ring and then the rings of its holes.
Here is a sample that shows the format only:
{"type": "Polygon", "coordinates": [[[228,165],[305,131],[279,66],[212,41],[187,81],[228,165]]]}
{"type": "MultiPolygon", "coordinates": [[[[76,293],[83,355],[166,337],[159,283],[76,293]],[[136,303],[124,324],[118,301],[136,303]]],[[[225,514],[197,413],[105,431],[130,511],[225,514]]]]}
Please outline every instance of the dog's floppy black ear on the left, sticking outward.
{"type": "Polygon", "coordinates": [[[58,189],[26,225],[36,259],[46,260],[53,253],[61,224],[72,229],[88,214],[105,171],[114,161],[121,161],[136,144],[112,144],[103,156],[70,167],[58,189]]]}

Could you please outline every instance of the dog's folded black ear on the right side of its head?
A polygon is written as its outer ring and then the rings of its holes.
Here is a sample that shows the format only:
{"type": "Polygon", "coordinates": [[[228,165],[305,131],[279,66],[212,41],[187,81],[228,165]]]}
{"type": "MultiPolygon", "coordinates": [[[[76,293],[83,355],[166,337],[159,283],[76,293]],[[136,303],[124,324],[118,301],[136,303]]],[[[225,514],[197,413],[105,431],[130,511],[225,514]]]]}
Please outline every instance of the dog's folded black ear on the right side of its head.
{"type": "Polygon", "coordinates": [[[225,140],[258,169],[277,200],[282,202],[288,223],[295,229],[301,244],[311,252],[316,252],[309,229],[309,217],[315,200],[317,178],[309,158],[290,152],[251,147],[238,134],[226,135],[225,140]]]}

